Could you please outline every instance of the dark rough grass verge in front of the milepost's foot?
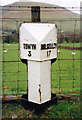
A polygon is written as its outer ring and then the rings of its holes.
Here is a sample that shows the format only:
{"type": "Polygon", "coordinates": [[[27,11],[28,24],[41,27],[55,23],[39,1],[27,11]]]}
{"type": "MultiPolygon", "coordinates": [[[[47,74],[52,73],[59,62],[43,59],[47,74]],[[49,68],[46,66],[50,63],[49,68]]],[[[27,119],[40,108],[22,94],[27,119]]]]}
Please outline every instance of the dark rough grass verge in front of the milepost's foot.
{"type": "MultiPolygon", "coordinates": [[[[36,108],[36,105],[35,105],[36,108]]],[[[24,109],[20,103],[5,103],[3,104],[3,119],[80,119],[80,101],[59,101],[57,104],[43,105],[42,108],[24,109]]]]}

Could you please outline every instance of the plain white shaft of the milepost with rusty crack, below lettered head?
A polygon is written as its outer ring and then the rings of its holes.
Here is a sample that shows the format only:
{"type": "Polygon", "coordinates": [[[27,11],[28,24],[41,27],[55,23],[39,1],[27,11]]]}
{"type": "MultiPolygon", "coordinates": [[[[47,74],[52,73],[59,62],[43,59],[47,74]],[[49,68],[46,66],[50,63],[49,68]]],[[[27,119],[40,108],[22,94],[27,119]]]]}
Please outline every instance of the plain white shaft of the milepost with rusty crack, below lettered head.
{"type": "Polygon", "coordinates": [[[28,101],[42,104],[51,98],[51,60],[28,61],[28,101]]]}

